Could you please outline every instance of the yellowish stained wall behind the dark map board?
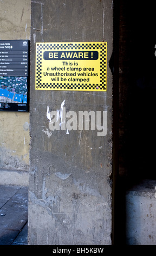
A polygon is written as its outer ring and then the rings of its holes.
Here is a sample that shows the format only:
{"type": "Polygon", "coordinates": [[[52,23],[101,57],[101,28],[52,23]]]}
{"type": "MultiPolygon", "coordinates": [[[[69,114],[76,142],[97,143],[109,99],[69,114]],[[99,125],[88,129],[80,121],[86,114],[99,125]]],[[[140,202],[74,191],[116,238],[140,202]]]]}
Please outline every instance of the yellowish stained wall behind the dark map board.
{"type": "MultiPolygon", "coordinates": [[[[0,40],[30,39],[30,0],[0,1],[0,40]]],[[[0,112],[0,184],[28,185],[29,113],[0,112]]]]}

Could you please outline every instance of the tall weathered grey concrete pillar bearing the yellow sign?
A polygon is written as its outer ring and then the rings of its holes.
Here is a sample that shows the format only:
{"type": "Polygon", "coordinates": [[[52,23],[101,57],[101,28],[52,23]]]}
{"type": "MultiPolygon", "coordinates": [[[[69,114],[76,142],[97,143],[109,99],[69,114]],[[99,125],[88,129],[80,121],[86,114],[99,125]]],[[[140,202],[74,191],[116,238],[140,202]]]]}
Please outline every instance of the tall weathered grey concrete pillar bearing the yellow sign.
{"type": "Polygon", "coordinates": [[[113,50],[110,0],[31,1],[29,245],[111,245],[112,74],[107,92],[35,90],[35,43],[107,41],[113,50]],[[107,111],[107,136],[49,130],[49,111],[107,111]]]}

